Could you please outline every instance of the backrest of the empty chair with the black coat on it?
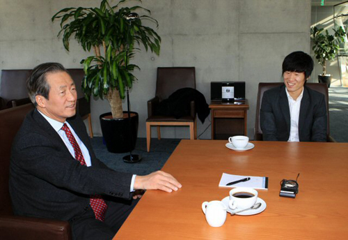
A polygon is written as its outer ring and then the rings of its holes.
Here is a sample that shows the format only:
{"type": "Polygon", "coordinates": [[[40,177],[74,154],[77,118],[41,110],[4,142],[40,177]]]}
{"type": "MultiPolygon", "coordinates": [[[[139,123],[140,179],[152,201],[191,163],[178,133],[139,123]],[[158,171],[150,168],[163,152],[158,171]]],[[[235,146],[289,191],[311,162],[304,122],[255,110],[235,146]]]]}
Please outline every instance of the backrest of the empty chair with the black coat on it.
{"type": "Polygon", "coordinates": [[[196,68],[171,67],[157,68],[156,96],[164,100],[178,89],[196,89],[196,68]]]}

